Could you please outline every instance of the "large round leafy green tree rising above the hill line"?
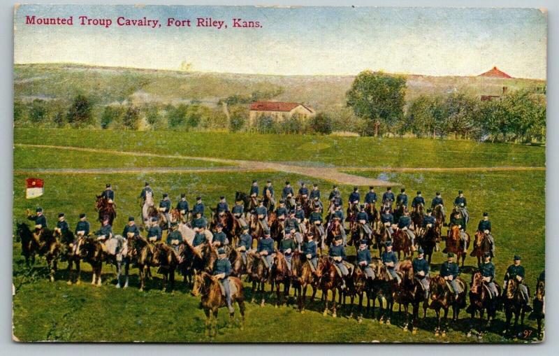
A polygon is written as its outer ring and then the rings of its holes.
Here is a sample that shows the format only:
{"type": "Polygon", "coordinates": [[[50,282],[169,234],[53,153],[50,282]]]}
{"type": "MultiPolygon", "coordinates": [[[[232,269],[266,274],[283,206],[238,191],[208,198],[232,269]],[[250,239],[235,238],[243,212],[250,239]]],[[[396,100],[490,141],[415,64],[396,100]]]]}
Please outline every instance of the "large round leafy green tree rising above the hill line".
{"type": "Polygon", "coordinates": [[[362,71],[346,93],[347,106],[370,121],[375,136],[381,124],[390,128],[404,115],[406,80],[382,72],[362,71]]]}

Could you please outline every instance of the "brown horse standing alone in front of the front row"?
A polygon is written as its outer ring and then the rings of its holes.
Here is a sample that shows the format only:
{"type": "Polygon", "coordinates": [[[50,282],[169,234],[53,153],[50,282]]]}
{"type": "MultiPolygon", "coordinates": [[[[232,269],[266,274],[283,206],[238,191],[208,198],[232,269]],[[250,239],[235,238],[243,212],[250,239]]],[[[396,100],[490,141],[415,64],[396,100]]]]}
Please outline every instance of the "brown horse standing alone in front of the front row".
{"type": "MultiPolygon", "coordinates": [[[[239,278],[228,277],[228,283],[235,285],[235,292],[231,292],[231,304],[237,302],[241,315],[240,329],[245,325],[245,295],[242,292],[242,283],[239,278]]],[[[205,313],[205,335],[215,336],[217,334],[217,312],[219,308],[227,306],[227,300],[222,294],[217,278],[209,273],[200,273],[194,279],[194,287],[191,294],[194,297],[201,296],[201,306],[205,313]],[[213,331],[212,331],[213,330],[213,331]]],[[[235,312],[229,314],[231,324],[235,321],[235,312]]]]}

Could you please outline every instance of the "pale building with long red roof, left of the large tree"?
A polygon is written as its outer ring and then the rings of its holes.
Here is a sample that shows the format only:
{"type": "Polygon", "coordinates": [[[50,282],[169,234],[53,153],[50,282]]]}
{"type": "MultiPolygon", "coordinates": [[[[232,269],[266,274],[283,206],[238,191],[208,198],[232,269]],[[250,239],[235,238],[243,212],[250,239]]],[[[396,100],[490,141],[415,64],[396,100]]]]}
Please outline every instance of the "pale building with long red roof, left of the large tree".
{"type": "Polygon", "coordinates": [[[312,118],[316,113],[309,106],[300,103],[285,103],[283,101],[254,101],[250,104],[249,124],[256,124],[258,118],[270,117],[277,121],[284,121],[293,116],[298,118],[312,118]]]}

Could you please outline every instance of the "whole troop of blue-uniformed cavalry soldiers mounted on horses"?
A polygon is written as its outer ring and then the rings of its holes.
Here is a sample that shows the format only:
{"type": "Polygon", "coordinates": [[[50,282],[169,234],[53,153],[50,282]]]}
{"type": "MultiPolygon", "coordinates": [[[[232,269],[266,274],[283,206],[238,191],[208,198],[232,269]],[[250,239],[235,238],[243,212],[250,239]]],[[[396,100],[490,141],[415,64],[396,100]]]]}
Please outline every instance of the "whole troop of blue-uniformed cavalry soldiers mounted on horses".
{"type": "MultiPolygon", "coordinates": [[[[351,317],[356,313],[359,322],[363,320],[363,299],[372,318],[386,324],[391,323],[393,304],[397,303],[405,311],[404,329],[412,329],[413,334],[418,327],[420,306],[423,317],[427,308],[435,311],[435,335],[444,336],[450,308],[452,320],[456,322],[468,299],[470,333],[474,324],[479,323],[476,316],[484,320],[486,315],[486,323],[478,334],[480,338],[492,327],[501,308],[506,316],[503,333],[513,336],[518,319],[523,324],[525,313],[532,311],[520,256],[514,256],[502,288],[495,281],[495,266],[491,262],[495,256],[495,239],[488,213],[484,213],[470,241],[467,233],[470,218],[462,191],[453,201],[448,223],[439,192],[431,204],[426,204],[421,192],[417,192],[408,208],[405,190],[395,196],[390,187],[382,199],[377,199],[374,187],[370,187],[363,200],[358,187],[354,187],[344,213],[342,195],[336,185],[325,208],[317,185],[308,189],[305,183],[300,183],[296,194],[286,182],[281,198],[276,200],[270,180],[262,194],[254,181],[248,194],[236,192],[231,209],[225,197],[220,197],[216,208],[210,209],[209,220],[202,197],[196,198],[192,208],[186,194],[181,194],[175,208],[168,194],[163,194],[159,204],[154,204],[154,192],[145,183],[139,199],[142,223],[136,225],[136,219],[129,216],[122,235],[112,232],[117,204],[110,184],[96,200],[101,222],[97,231],[92,231],[83,213],[72,230],[64,213],[59,213],[57,226],[49,229],[41,208],[36,208],[34,215],[27,211],[34,227],[17,224],[17,238],[22,242],[27,265],[34,263],[36,255],[44,256],[50,280],[54,280],[57,263],[65,260],[70,272],[68,284],[72,284],[80,283],[80,262],[87,262],[92,266],[92,284],[101,285],[103,262],[115,264],[117,287],[128,287],[129,269],[134,266],[138,268],[140,290],[145,287],[145,278],[151,278],[152,267],[157,267],[157,273],[163,276],[164,290],[173,290],[178,271],[184,276],[184,283],[191,286],[192,294],[201,297],[210,335],[217,332],[217,311],[222,306],[228,307],[233,321],[236,302],[244,321],[243,277],[252,283],[253,301],[259,299],[261,305],[266,300],[267,283],[277,294],[276,304],[289,299],[289,290],[293,288],[301,313],[305,312],[309,287],[311,300],[321,290],[324,315],[328,315],[331,303],[332,315],[336,317],[337,304],[345,306],[349,297],[351,317]],[[448,227],[444,236],[443,227],[448,227]],[[448,260],[434,274],[431,256],[440,250],[442,241],[445,243],[442,252],[448,260]],[[467,281],[460,277],[460,266],[464,266],[470,244],[473,245],[470,256],[477,258],[478,269],[467,281]],[[347,245],[355,246],[355,257],[346,255],[347,245]],[[374,257],[377,251],[378,257],[374,257]],[[376,301],[379,301],[379,311],[375,315],[376,301]]],[[[544,318],[544,286],[542,272],[532,311],[539,337],[542,337],[544,318]]]]}

